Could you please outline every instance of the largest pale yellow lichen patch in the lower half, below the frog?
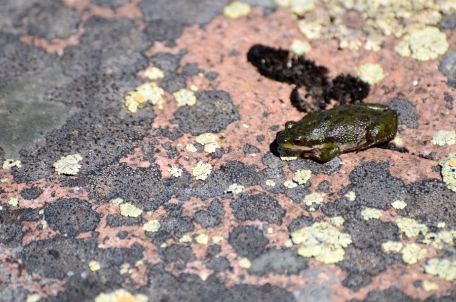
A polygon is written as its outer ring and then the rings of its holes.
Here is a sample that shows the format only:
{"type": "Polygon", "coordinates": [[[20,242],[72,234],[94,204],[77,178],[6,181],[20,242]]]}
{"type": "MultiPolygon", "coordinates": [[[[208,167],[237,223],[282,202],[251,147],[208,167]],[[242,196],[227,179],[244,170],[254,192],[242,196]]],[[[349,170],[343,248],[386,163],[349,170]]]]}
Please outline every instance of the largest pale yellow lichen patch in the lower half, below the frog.
{"type": "Polygon", "coordinates": [[[298,254],[315,257],[323,263],[336,263],[344,259],[346,248],[352,243],[348,234],[339,232],[327,222],[315,222],[312,226],[291,233],[293,244],[302,244],[298,254]]]}

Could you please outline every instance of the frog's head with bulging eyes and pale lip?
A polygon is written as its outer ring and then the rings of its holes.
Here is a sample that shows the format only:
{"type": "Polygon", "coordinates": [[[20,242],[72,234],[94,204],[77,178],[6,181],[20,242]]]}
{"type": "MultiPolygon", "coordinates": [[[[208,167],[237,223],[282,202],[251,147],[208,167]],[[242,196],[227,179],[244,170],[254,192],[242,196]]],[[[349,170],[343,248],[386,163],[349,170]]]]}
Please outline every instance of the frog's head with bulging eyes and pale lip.
{"type": "Polygon", "coordinates": [[[305,125],[298,125],[298,123],[294,121],[286,122],[285,130],[280,132],[277,136],[277,143],[279,146],[286,150],[297,152],[308,152],[318,148],[319,145],[322,144],[322,138],[320,137],[319,131],[301,126],[305,125]]]}

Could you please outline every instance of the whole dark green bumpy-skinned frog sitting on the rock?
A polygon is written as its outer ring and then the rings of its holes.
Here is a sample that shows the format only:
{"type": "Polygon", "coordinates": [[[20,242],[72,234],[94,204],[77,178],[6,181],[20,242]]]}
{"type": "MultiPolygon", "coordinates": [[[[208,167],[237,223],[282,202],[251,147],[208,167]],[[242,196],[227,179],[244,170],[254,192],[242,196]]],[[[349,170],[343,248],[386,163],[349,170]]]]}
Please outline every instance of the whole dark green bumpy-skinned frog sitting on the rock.
{"type": "Polygon", "coordinates": [[[327,162],[340,153],[385,143],[397,132],[397,114],[382,104],[351,104],[285,123],[277,143],[286,150],[327,162]]]}

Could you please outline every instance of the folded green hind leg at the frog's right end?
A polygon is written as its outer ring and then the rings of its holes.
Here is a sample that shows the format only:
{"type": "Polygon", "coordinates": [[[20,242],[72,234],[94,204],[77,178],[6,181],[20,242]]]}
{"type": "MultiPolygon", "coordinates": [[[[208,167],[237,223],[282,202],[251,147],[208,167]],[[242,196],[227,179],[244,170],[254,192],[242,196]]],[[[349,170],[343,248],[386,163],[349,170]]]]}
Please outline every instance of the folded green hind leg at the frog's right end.
{"type": "Polygon", "coordinates": [[[387,142],[394,138],[397,132],[397,114],[394,110],[389,110],[381,115],[375,123],[367,128],[367,145],[387,142]]]}

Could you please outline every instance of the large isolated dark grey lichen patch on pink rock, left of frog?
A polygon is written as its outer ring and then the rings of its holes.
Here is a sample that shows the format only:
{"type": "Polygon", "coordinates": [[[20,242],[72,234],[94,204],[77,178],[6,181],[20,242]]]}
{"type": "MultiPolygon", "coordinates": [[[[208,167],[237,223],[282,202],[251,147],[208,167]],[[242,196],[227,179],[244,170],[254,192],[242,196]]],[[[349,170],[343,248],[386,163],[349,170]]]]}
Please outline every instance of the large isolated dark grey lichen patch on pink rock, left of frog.
{"type": "Polygon", "coordinates": [[[227,92],[201,91],[196,93],[196,97],[194,106],[179,107],[171,120],[171,123],[179,124],[183,132],[192,135],[218,133],[240,119],[238,109],[227,92]]]}

